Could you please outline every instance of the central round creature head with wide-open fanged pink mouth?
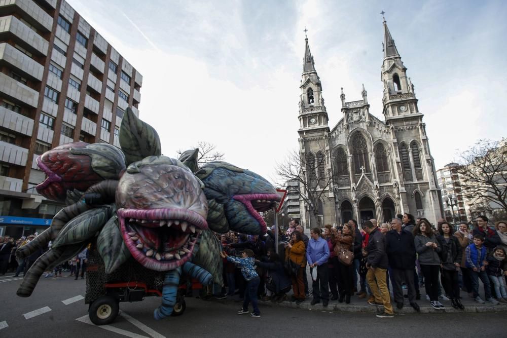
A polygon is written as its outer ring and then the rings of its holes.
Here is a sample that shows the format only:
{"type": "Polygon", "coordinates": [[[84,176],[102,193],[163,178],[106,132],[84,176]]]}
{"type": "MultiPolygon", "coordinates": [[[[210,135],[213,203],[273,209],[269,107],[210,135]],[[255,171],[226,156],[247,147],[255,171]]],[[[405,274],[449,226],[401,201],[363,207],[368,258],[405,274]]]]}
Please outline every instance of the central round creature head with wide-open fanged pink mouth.
{"type": "Polygon", "coordinates": [[[156,271],[189,261],[208,229],[202,182],[180,161],[150,156],[130,164],[116,193],[123,240],[132,256],[156,271]]]}

